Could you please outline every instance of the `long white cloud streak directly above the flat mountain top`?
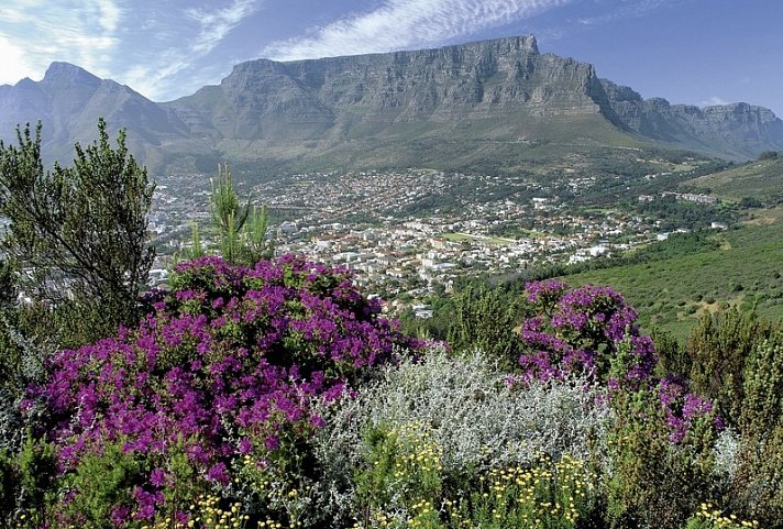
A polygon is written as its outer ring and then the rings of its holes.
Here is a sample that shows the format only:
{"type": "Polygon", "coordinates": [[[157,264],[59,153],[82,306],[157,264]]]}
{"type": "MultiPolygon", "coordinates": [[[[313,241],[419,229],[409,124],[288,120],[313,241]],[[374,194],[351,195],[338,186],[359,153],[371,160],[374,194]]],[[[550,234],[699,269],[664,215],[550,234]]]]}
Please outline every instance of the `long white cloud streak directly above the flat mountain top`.
{"type": "Polygon", "coordinates": [[[311,36],[276,42],[261,55],[278,60],[389,52],[440,44],[520,21],[572,0],[386,0],[311,36]]]}

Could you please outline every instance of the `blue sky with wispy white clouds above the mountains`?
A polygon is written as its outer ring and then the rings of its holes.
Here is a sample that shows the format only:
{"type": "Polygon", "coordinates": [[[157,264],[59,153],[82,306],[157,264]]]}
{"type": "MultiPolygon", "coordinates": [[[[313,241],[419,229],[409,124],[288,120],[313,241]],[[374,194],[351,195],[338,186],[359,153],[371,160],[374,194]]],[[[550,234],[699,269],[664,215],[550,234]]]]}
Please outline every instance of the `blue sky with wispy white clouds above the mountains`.
{"type": "Polygon", "coordinates": [[[644,97],[783,115],[781,0],[4,0],[0,84],[66,60],[155,101],[240,62],[534,34],[644,97]]]}

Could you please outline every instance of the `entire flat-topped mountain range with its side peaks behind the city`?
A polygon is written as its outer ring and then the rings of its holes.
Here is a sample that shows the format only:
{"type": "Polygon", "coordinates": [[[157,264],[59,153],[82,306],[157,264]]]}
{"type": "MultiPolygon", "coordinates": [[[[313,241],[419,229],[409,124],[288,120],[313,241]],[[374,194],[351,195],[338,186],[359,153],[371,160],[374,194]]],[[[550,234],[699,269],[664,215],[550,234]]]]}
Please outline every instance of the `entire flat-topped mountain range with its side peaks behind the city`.
{"type": "Polygon", "coordinates": [[[435,49],[236,65],[219,86],[155,103],[54,63],[40,82],[0,87],[0,137],[44,123],[48,157],[103,115],[153,170],[220,158],[279,170],[521,167],[565,152],[657,145],[750,158],[783,150],[783,122],[746,103],[643,100],[586,63],[541,54],[533,36],[435,49]]]}

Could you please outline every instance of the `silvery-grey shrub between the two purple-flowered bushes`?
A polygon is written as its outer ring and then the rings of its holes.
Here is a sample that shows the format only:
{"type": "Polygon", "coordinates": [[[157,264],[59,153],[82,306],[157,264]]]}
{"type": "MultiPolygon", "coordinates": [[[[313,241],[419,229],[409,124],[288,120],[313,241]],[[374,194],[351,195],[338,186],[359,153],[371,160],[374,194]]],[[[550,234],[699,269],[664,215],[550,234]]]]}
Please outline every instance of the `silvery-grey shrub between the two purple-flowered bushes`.
{"type": "Polygon", "coordinates": [[[321,508],[350,510],[367,426],[427,425],[443,449],[446,474],[526,464],[542,452],[586,460],[602,452],[611,422],[600,395],[581,378],[508,387],[506,375],[482,353],[452,357],[432,351],[422,361],[387,367],[356,398],[321,410],[327,427],[313,441],[324,474],[321,508]]]}

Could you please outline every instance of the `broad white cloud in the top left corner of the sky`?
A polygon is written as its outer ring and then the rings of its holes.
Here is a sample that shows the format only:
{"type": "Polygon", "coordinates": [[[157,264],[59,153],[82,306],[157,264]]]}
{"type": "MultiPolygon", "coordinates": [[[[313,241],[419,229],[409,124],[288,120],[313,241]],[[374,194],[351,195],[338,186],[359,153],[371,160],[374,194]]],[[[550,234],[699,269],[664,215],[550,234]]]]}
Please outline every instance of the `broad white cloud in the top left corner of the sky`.
{"type": "Polygon", "coordinates": [[[3,43],[0,82],[13,82],[20,73],[35,76],[54,59],[77,63],[99,75],[107,73],[119,43],[121,18],[122,10],[113,0],[21,0],[3,5],[0,38],[11,44],[3,43]]]}

